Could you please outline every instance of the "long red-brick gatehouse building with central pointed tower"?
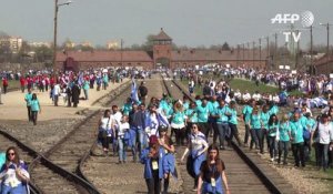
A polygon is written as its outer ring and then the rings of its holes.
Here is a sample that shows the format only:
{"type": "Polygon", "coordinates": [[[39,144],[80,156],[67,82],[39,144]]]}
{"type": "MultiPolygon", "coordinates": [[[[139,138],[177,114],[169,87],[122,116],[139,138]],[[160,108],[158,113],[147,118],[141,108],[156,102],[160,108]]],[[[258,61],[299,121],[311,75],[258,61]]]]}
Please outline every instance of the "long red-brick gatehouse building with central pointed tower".
{"type": "Polygon", "coordinates": [[[231,67],[268,67],[266,50],[250,49],[180,49],[172,50],[172,39],[161,29],[153,39],[152,51],[67,51],[57,53],[57,69],[87,69],[91,67],[138,67],[152,69],[157,65],[188,68],[208,63],[231,67]]]}

